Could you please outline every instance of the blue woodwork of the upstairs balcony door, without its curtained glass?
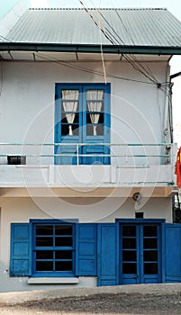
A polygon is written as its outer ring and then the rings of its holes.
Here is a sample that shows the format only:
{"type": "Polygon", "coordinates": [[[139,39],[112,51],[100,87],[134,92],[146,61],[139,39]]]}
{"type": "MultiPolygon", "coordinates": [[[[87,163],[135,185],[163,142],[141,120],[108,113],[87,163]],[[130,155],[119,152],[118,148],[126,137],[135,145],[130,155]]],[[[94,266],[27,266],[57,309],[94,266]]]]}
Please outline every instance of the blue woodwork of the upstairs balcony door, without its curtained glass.
{"type": "Polygon", "coordinates": [[[110,84],[56,84],[55,87],[55,143],[65,143],[65,146],[55,146],[55,154],[66,155],[55,157],[55,164],[59,165],[90,165],[90,164],[110,164],[110,157],[102,157],[110,154],[109,146],[101,146],[100,143],[110,143],[110,84]],[[63,136],[61,134],[61,91],[62,89],[77,89],[79,91],[79,123],[78,132],[74,136],[63,136]],[[99,136],[88,136],[86,130],[86,91],[104,90],[104,134],[99,136]],[[95,146],[79,146],[78,153],[89,155],[89,157],[79,157],[77,160],[78,143],[95,143],[95,146]],[[70,144],[67,146],[67,144],[70,144]],[[71,146],[72,144],[72,146],[71,146]],[[98,154],[100,157],[91,157],[98,154]]]}

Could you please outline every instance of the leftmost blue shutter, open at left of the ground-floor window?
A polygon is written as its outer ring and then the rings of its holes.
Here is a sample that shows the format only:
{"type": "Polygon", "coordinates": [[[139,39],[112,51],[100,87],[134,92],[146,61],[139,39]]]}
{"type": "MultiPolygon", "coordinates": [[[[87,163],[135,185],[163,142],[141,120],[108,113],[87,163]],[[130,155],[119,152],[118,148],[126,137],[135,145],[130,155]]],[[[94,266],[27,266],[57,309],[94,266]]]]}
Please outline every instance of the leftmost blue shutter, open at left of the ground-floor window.
{"type": "Polygon", "coordinates": [[[12,223],[11,225],[11,263],[10,275],[31,275],[30,225],[12,223]]]}

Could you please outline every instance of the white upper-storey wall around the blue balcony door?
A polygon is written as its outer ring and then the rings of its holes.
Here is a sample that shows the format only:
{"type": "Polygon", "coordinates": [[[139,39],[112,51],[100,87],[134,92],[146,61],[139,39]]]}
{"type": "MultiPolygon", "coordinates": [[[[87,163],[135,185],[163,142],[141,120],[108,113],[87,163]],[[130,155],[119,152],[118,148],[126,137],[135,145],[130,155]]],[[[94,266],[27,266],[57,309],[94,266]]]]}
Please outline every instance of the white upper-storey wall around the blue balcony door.
{"type": "MultiPolygon", "coordinates": [[[[167,62],[149,62],[149,69],[158,82],[167,81],[167,62]]],[[[76,62],[76,67],[102,71],[101,62],[76,62]]],[[[107,78],[111,83],[111,142],[158,143],[164,139],[166,99],[162,89],[150,84],[139,71],[127,62],[106,61],[106,72],[149,84],[107,78]]],[[[142,66],[146,67],[145,63],[142,66]]],[[[0,142],[45,143],[54,142],[55,83],[103,83],[96,76],[77,69],[50,62],[4,62],[0,99],[0,142]]],[[[167,113],[167,112],[166,112],[167,113]]],[[[21,147],[1,148],[1,154],[21,153],[21,147]]],[[[53,153],[53,148],[24,148],[22,154],[53,153]]],[[[113,154],[158,154],[156,148],[113,148],[113,154]]],[[[1,157],[6,163],[6,157],[1,157]]],[[[53,164],[53,158],[28,157],[28,164],[53,164]]],[[[145,165],[164,163],[159,158],[130,159],[114,157],[113,165],[145,165]]]]}

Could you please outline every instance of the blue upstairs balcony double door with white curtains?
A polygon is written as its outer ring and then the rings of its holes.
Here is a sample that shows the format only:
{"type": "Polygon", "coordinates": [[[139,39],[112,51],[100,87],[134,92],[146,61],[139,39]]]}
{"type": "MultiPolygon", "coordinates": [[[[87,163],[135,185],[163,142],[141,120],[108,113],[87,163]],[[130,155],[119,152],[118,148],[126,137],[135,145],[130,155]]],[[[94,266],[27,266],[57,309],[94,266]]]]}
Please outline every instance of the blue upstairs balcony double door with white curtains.
{"type": "Polygon", "coordinates": [[[110,84],[56,84],[55,142],[56,164],[110,164],[110,84]]]}

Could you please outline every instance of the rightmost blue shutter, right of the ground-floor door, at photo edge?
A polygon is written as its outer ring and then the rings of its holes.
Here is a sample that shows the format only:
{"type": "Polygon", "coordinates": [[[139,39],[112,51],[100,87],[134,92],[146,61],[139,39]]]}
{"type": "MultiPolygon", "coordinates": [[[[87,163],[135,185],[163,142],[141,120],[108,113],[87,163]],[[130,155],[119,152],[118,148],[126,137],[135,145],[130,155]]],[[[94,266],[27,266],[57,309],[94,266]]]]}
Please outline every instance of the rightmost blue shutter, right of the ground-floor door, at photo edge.
{"type": "Polygon", "coordinates": [[[165,281],[181,282],[181,224],[165,224],[165,281]]]}

